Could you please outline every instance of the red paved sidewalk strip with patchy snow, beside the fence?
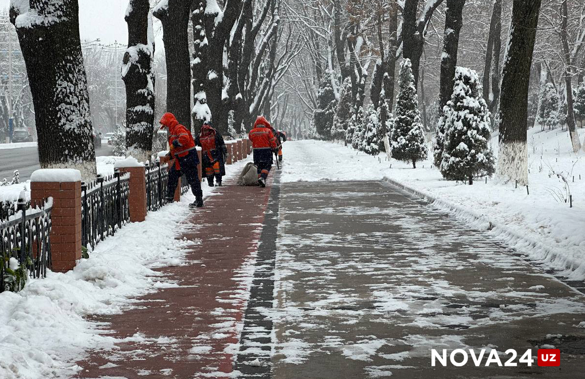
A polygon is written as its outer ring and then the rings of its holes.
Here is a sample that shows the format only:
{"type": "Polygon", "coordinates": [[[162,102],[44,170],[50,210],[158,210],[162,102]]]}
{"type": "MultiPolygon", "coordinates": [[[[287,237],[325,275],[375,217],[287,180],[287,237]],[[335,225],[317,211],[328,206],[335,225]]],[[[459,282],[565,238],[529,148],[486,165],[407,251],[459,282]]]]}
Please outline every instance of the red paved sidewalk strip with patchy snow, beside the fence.
{"type": "Polygon", "coordinates": [[[238,349],[230,344],[239,341],[252,275],[246,271],[253,267],[270,188],[271,181],[266,188],[229,181],[194,211],[185,237],[202,243],[187,254],[191,264],[157,269],[180,287],[138,298],[140,308],[98,318],[127,342],[88,352],[77,363],[78,377],[221,378],[217,371],[231,372],[238,349]]]}

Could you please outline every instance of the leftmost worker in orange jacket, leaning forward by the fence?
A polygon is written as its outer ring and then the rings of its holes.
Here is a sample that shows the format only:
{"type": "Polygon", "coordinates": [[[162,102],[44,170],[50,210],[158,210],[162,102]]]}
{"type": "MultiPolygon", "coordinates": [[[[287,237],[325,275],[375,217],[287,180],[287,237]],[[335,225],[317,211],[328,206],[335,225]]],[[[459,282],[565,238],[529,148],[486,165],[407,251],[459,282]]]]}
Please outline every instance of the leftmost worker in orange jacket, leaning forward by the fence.
{"type": "Polygon", "coordinates": [[[171,158],[175,160],[175,164],[168,171],[167,201],[173,201],[179,178],[184,173],[195,195],[195,201],[189,204],[189,207],[199,208],[203,206],[203,192],[197,171],[199,157],[193,136],[177,121],[173,113],[164,113],[163,118],[160,119],[160,125],[160,129],[168,129],[168,147],[171,158]]]}

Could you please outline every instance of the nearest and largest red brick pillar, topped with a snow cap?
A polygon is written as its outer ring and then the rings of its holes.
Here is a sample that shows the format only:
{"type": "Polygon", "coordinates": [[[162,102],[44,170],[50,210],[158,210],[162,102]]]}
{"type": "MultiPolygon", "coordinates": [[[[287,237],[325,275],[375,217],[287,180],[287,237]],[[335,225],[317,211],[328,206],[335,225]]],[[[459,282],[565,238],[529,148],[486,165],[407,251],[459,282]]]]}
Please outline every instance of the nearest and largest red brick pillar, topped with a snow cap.
{"type": "MultiPolygon", "coordinates": [[[[81,259],[81,174],[78,181],[42,181],[43,177],[35,178],[31,175],[30,199],[42,201],[44,198],[53,198],[53,209],[51,211],[51,258],[53,266],[51,269],[64,273],[73,270],[75,261],[81,259]]],[[[48,171],[48,170],[38,170],[48,171]]],[[[59,175],[59,169],[51,169],[55,177],[59,175]]],[[[45,178],[46,180],[46,178],[45,178]]]]}

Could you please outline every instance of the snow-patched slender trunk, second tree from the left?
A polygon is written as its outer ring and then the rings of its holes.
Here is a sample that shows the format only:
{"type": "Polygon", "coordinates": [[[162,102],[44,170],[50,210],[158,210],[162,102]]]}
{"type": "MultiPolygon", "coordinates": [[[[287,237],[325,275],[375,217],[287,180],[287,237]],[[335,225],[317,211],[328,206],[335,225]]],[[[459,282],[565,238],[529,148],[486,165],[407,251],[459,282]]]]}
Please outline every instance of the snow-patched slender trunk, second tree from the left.
{"type": "Polygon", "coordinates": [[[122,60],[126,86],[126,155],[150,160],[154,131],[154,33],[149,0],[130,0],[125,16],[128,49],[122,60]]]}

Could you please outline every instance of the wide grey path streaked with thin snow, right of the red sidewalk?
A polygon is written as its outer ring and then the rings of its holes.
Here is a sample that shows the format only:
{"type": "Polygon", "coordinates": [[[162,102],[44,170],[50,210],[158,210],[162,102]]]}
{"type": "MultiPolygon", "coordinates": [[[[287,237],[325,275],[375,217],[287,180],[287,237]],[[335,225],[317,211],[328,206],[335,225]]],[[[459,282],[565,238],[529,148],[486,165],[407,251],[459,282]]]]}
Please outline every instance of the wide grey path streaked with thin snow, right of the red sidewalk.
{"type": "Polygon", "coordinates": [[[583,377],[583,293],[385,182],[283,183],[275,266],[273,306],[255,308],[271,323],[244,329],[272,349],[242,340],[271,366],[258,377],[583,377]],[[560,370],[519,363],[543,344],[560,370]],[[458,348],[488,349],[483,364],[515,349],[517,366],[431,367],[458,348]]]}

